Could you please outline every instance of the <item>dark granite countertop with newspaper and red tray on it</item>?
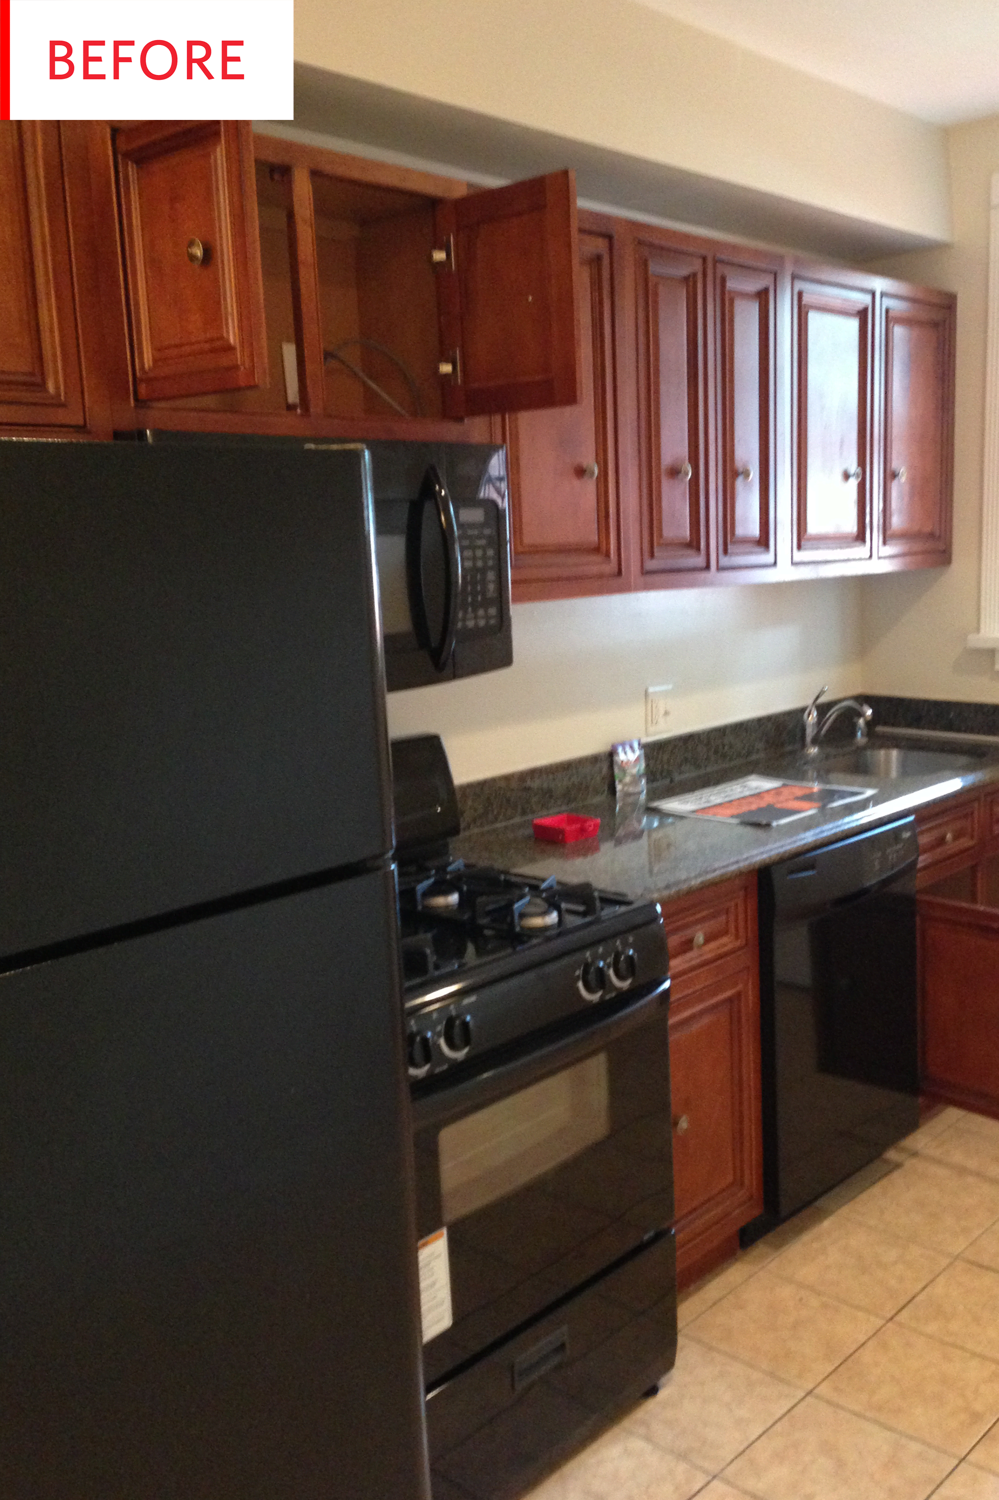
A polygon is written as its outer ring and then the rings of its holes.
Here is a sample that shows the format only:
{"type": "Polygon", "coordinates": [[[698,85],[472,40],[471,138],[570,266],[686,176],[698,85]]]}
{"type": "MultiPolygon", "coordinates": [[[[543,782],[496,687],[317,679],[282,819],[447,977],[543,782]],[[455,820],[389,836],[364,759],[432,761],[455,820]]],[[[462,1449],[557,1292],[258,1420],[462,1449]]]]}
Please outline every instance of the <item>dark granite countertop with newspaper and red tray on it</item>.
{"type": "MultiPolygon", "coordinates": [[[[878,748],[891,747],[890,736],[872,741],[878,748]]],[[[906,741],[912,748],[912,742],[906,741]]],[[[926,747],[928,748],[928,747],[926,747]]],[[[939,744],[934,750],[946,748],[939,744]]],[[[952,747],[966,753],[963,746],[952,747]]],[[[530,818],[498,824],[464,834],[452,844],[452,852],[476,864],[492,864],[524,874],[555,874],[560,880],[591,880],[609,891],[622,891],[633,898],[672,897],[710,885],[730,874],[746,874],[789,855],[802,854],[836,837],[904,816],[927,802],[999,782],[999,748],[986,753],[968,752],[968,770],[946,770],[928,776],[904,776],[876,780],[842,770],[842,764],[825,770],[800,753],[765,758],[740,765],[716,766],[681,782],[652,783],[648,801],[676,796],[686,790],[734,780],[752,772],[788,780],[816,777],[843,786],[870,789],[862,802],[810,813],[776,828],[753,828],[740,824],[710,822],[702,818],[675,818],[651,808],[639,819],[618,818],[614,798],[567,807],[566,812],[600,818],[598,838],[570,844],[540,843],[534,838],[530,818]]]]}

